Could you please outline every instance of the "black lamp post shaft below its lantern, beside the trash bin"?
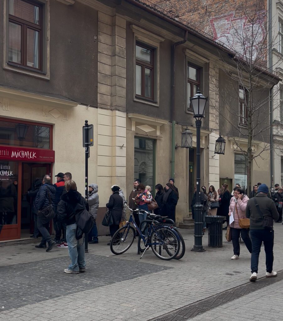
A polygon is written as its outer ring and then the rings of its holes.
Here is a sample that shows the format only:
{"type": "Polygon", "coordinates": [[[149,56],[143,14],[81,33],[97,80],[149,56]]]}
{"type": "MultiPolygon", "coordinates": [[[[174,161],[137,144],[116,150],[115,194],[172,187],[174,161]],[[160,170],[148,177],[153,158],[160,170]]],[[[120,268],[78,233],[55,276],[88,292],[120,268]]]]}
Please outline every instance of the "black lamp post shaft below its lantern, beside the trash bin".
{"type": "Polygon", "coordinates": [[[202,246],[202,208],[203,205],[200,204],[200,127],[201,120],[196,120],[196,128],[197,128],[197,197],[195,208],[195,244],[191,249],[195,252],[204,252],[205,249],[202,246]]]}

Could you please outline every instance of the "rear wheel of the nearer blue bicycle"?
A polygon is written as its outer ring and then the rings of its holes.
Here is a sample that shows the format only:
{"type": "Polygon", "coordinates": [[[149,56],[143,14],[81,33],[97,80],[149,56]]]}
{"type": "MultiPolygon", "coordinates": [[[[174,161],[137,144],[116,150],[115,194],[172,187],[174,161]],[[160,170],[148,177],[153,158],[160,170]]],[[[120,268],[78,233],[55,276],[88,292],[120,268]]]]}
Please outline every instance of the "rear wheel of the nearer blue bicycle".
{"type": "Polygon", "coordinates": [[[178,242],[176,234],[164,226],[157,228],[150,235],[150,243],[160,243],[151,245],[151,249],[162,260],[172,260],[180,250],[180,242],[178,242]]]}

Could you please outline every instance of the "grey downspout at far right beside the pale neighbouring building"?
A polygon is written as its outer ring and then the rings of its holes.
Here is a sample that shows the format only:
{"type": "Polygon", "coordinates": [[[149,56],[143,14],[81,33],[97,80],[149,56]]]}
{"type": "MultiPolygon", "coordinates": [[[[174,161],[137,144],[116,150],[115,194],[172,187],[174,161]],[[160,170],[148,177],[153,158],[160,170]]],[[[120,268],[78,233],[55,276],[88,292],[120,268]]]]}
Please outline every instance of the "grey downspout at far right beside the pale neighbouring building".
{"type": "MultiPolygon", "coordinates": [[[[269,39],[268,39],[268,54],[269,54],[269,69],[272,72],[272,49],[271,49],[271,39],[272,39],[272,0],[269,0],[269,15],[268,15],[268,28],[269,28],[269,39]]],[[[274,177],[274,151],[273,151],[273,86],[270,89],[270,184],[272,184],[274,177]]]]}

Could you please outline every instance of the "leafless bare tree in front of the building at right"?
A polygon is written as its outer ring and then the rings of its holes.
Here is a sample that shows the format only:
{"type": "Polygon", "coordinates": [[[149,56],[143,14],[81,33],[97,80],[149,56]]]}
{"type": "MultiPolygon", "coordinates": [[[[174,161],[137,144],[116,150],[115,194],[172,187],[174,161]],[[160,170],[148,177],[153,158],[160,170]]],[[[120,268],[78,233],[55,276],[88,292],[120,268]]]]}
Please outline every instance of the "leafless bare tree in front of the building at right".
{"type": "Polygon", "coordinates": [[[279,104],[270,108],[271,89],[279,77],[271,71],[274,66],[267,66],[269,46],[273,47],[276,39],[268,39],[265,6],[264,1],[256,0],[251,10],[250,3],[243,1],[241,16],[231,22],[226,39],[223,35],[221,39],[235,52],[229,58],[219,52],[219,77],[225,77],[226,86],[219,88],[219,82],[210,77],[219,95],[217,103],[211,103],[221,115],[221,134],[230,137],[246,159],[248,192],[252,186],[252,162],[258,157],[263,159],[264,152],[270,150],[270,116],[279,108],[279,104]],[[241,139],[246,140],[246,148],[241,139]]]}

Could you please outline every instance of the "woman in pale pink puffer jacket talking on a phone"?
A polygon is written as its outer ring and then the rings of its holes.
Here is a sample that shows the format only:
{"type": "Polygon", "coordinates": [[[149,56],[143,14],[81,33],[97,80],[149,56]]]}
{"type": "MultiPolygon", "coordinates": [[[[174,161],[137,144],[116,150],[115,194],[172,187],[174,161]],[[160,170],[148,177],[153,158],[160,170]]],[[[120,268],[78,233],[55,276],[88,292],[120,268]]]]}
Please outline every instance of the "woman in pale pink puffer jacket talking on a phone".
{"type": "Polygon", "coordinates": [[[242,188],[234,188],[234,196],[230,200],[229,216],[233,213],[234,222],[230,224],[232,233],[232,243],[234,249],[234,255],[231,260],[237,260],[240,255],[240,234],[245,242],[245,245],[250,253],[252,253],[252,241],[249,237],[249,229],[242,229],[239,224],[239,219],[246,218],[246,206],[248,203],[248,196],[244,194],[242,188]]]}

